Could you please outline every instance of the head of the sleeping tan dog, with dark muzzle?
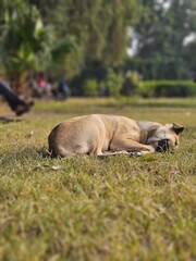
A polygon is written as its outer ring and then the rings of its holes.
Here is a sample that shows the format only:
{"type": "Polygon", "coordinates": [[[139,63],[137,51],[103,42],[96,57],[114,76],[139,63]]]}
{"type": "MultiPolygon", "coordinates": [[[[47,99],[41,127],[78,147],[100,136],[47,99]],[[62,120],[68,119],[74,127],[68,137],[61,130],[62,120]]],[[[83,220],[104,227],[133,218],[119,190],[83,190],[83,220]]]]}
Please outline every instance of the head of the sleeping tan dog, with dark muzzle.
{"type": "Polygon", "coordinates": [[[146,142],[159,152],[175,149],[179,146],[179,135],[183,130],[184,127],[176,123],[152,126],[148,133],[146,142]]]}

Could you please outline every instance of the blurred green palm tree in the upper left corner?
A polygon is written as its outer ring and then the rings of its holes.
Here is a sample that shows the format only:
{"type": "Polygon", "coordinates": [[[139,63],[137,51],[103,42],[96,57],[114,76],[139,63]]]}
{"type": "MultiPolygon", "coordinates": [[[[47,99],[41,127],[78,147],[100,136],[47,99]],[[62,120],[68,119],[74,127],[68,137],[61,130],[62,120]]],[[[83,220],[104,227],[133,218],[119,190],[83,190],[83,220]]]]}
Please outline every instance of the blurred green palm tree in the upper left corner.
{"type": "MultiPolygon", "coordinates": [[[[0,22],[0,62],[15,88],[23,86],[28,73],[44,69],[50,59],[49,28],[42,26],[35,5],[16,0],[4,3],[0,22]]],[[[1,11],[2,12],[2,11],[1,11]]]]}

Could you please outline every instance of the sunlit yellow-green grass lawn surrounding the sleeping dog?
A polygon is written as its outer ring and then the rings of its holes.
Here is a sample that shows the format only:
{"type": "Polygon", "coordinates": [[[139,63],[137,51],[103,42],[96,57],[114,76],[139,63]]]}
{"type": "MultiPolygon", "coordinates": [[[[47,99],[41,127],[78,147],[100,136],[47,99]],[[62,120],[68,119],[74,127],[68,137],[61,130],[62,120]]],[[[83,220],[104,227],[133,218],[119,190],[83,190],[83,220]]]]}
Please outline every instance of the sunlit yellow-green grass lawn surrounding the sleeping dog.
{"type": "Polygon", "coordinates": [[[196,260],[196,99],[37,101],[20,120],[0,120],[0,260],[196,260]],[[57,123],[89,113],[185,130],[174,153],[42,157],[57,123]]]}

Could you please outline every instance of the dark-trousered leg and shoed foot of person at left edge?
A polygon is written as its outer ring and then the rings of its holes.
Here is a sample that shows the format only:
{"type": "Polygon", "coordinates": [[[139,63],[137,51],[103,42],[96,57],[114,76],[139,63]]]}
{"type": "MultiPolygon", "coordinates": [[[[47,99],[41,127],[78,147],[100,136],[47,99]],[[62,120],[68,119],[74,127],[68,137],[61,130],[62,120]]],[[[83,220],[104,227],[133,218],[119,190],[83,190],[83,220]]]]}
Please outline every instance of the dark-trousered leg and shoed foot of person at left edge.
{"type": "Polygon", "coordinates": [[[0,95],[2,95],[8,102],[12,111],[15,112],[17,116],[28,112],[30,107],[34,104],[33,101],[26,102],[20,99],[13,89],[10,87],[9,83],[0,78],[0,95]]]}

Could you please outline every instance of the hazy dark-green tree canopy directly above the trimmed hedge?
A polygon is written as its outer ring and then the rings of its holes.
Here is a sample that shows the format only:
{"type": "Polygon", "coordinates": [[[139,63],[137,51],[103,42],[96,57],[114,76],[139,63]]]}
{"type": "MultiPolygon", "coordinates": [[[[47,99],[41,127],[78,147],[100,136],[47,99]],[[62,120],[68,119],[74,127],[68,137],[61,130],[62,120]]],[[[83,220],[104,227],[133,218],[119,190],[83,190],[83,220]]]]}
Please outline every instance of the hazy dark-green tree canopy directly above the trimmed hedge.
{"type": "Polygon", "coordinates": [[[184,39],[196,32],[195,0],[143,0],[134,27],[138,67],[146,78],[186,78],[193,73],[184,39]]]}

